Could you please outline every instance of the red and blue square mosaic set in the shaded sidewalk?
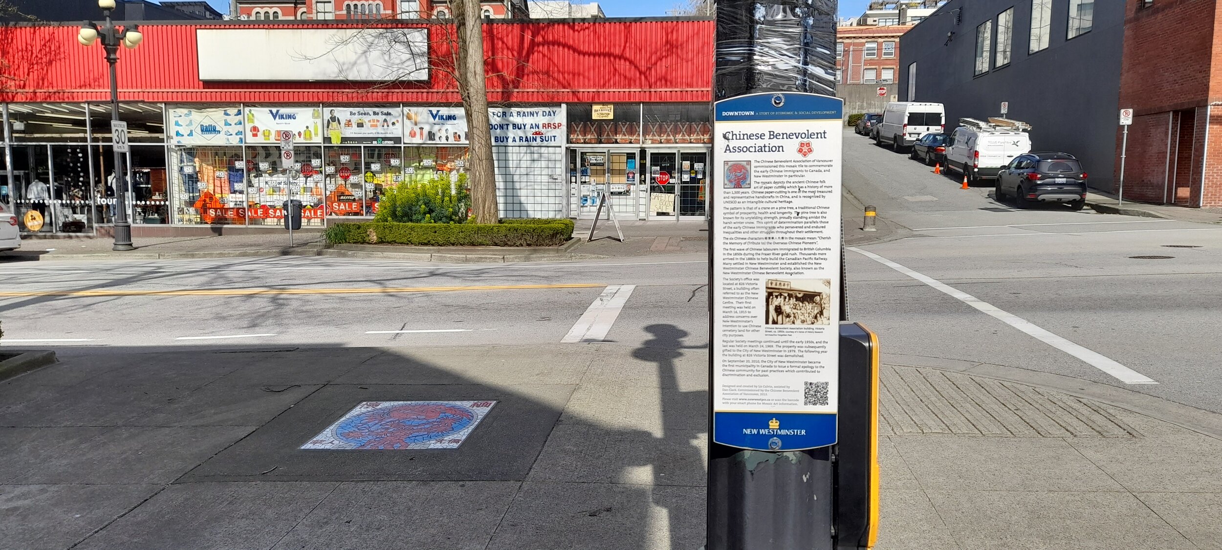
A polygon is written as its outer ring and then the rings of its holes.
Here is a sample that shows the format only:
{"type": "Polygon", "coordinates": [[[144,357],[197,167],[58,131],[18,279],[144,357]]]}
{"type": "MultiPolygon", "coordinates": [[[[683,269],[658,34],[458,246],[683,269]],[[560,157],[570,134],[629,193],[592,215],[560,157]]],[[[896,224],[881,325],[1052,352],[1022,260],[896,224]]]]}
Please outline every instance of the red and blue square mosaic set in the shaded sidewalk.
{"type": "Polygon", "coordinates": [[[496,401],[365,401],[301,449],[458,449],[496,401]]]}

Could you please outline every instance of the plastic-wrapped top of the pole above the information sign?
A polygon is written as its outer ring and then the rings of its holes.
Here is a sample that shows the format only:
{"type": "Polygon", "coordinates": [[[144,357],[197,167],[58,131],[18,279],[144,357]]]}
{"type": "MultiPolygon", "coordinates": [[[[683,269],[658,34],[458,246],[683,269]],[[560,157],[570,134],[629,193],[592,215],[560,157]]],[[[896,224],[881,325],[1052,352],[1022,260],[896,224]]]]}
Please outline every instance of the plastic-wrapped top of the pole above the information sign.
{"type": "Polygon", "coordinates": [[[714,99],[759,92],[836,95],[836,4],[719,1],[714,99]]]}

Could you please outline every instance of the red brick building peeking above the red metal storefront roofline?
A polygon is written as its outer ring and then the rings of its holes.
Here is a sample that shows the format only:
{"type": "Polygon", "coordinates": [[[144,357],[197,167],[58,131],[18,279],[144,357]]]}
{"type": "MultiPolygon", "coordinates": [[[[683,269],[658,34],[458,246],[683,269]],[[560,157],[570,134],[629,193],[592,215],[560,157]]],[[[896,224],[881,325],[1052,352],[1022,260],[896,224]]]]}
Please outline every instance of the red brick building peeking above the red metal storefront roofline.
{"type": "MultiPolygon", "coordinates": [[[[237,0],[242,20],[417,20],[450,17],[448,0],[237,0]]],[[[485,0],[480,11],[488,18],[527,17],[525,0],[485,0]]]]}

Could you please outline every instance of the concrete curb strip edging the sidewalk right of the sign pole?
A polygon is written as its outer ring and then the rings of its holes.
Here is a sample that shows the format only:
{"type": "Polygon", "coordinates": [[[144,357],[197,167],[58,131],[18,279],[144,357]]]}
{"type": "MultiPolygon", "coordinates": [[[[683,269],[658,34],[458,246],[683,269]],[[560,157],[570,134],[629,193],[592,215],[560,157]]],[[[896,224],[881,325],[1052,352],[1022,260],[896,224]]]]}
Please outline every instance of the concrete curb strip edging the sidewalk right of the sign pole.
{"type": "Polygon", "coordinates": [[[990,378],[1058,391],[1074,397],[1099,401],[1117,408],[1143,414],[1157,420],[1174,424],[1198,434],[1222,440],[1222,414],[1202,411],[1188,405],[1180,405],[1162,397],[1140,394],[1133,390],[1095,383],[1062,374],[1041,373],[1006,367],[1003,364],[976,363],[970,361],[946,359],[941,357],[904,356],[882,353],[882,364],[896,367],[920,367],[938,370],[953,370],[973,376],[990,378]]]}

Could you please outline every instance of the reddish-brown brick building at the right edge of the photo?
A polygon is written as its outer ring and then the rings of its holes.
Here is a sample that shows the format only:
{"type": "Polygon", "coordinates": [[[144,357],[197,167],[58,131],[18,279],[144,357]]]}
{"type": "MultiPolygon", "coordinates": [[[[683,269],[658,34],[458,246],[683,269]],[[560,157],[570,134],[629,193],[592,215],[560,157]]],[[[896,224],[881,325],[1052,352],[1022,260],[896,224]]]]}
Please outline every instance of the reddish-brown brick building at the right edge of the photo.
{"type": "MultiPolygon", "coordinates": [[[[1220,64],[1222,6],[1128,1],[1119,105],[1132,108],[1135,117],[1124,167],[1125,197],[1222,207],[1220,64]]],[[[1119,158],[1119,133],[1116,137],[1119,158]]],[[[1119,174],[1119,161],[1116,170],[1119,174]]]]}

